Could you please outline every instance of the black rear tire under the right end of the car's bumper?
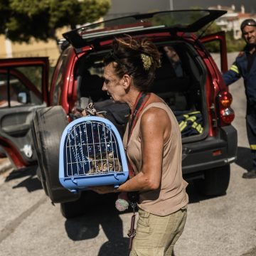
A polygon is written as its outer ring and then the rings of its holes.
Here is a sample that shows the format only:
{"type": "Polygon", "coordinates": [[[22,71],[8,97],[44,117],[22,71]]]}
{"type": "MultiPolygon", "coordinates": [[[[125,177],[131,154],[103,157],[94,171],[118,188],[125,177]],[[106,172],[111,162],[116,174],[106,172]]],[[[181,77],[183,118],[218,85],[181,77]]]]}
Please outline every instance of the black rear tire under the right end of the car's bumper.
{"type": "Polygon", "coordinates": [[[230,165],[204,171],[204,178],[195,180],[196,189],[205,196],[225,195],[230,181],[230,165]]]}

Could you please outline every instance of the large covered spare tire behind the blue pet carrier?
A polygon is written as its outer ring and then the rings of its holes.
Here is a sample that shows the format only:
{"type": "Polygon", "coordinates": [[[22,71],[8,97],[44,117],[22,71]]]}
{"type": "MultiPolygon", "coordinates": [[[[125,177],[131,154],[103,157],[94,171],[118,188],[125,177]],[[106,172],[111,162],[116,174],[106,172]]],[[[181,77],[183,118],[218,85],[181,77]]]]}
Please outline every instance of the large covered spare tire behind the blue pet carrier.
{"type": "Polygon", "coordinates": [[[38,178],[46,195],[53,203],[77,201],[80,193],[74,194],[59,181],[59,147],[63,130],[68,124],[61,106],[36,110],[32,123],[33,146],[38,159],[38,178]]]}

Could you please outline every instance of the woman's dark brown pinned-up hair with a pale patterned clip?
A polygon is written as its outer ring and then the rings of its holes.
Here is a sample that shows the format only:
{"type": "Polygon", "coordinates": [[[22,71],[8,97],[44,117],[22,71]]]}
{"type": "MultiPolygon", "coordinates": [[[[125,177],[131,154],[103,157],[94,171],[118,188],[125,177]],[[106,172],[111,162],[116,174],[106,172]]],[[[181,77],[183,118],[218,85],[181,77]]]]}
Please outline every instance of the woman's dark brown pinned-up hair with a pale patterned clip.
{"type": "Polygon", "coordinates": [[[119,78],[124,74],[132,75],[137,89],[147,92],[154,81],[155,70],[160,66],[160,53],[146,38],[140,41],[131,36],[115,38],[112,51],[104,59],[105,65],[112,62],[119,78]]]}

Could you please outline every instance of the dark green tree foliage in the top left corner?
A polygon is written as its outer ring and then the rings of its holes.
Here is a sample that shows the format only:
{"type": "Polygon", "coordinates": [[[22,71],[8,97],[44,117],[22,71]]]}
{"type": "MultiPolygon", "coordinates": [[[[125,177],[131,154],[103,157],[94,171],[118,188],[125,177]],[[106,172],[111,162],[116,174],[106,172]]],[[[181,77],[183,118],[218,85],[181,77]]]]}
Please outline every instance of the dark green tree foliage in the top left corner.
{"type": "Polygon", "coordinates": [[[97,21],[109,9],[110,0],[0,0],[0,34],[15,42],[57,40],[58,28],[97,21]]]}

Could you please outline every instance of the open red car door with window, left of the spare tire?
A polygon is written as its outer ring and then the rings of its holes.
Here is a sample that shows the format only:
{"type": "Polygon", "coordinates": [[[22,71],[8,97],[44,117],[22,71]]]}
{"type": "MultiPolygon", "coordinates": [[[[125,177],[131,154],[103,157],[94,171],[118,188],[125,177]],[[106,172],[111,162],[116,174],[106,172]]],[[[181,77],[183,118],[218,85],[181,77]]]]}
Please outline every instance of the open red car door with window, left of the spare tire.
{"type": "Polygon", "coordinates": [[[48,105],[48,58],[0,59],[0,146],[14,168],[36,164],[35,110],[48,105]]]}

